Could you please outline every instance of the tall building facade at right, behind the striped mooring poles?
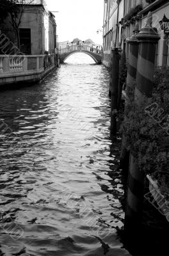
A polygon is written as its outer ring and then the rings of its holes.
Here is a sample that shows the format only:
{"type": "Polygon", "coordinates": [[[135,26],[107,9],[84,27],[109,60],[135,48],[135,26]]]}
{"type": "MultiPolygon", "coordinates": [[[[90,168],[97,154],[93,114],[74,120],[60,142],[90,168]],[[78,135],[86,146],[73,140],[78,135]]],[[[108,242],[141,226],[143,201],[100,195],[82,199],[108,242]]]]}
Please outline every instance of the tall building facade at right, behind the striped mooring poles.
{"type": "Polygon", "coordinates": [[[103,64],[108,67],[113,47],[126,50],[128,60],[128,38],[133,35],[135,24],[145,26],[147,15],[153,15],[152,26],[157,29],[161,40],[156,50],[156,64],[169,66],[168,36],[161,30],[159,21],[163,15],[169,19],[168,0],[104,0],[103,64]]]}

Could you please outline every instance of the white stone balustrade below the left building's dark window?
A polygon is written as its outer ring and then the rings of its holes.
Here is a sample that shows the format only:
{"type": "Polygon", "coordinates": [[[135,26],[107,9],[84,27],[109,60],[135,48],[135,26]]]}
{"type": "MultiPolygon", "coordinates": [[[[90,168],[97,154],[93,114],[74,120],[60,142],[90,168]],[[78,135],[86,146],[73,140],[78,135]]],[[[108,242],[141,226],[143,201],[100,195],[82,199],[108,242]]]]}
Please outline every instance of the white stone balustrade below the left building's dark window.
{"type": "Polygon", "coordinates": [[[54,54],[49,54],[48,57],[45,58],[45,55],[0,55],[0,76],[41,72],[54,65],[54,54]]]}

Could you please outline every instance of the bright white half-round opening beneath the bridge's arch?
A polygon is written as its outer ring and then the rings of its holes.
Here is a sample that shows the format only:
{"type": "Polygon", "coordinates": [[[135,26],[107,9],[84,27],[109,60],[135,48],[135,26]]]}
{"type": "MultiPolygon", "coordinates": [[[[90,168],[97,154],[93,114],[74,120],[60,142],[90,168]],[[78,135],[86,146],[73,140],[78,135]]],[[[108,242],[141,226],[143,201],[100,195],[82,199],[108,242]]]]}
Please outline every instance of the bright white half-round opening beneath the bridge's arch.
{"type": "Polygon", "coordinates": [[[65,60],[68,64],[96,64],[95,61],[87,54],[74,53],[65,60]]]}

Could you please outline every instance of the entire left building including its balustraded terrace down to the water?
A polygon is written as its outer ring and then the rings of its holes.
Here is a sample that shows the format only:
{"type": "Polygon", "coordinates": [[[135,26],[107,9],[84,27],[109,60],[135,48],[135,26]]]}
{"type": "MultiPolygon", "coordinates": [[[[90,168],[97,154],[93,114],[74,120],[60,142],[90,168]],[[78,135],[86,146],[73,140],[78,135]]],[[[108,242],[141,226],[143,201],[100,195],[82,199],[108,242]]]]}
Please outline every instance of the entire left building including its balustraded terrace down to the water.
{"type": "Polygon", "coordinates": [[[17,27],[10,15],[0,24],[1,88],[40,81],[58,67],[55,17],[45,1],[27,1],[17,5],[17,27]]]}

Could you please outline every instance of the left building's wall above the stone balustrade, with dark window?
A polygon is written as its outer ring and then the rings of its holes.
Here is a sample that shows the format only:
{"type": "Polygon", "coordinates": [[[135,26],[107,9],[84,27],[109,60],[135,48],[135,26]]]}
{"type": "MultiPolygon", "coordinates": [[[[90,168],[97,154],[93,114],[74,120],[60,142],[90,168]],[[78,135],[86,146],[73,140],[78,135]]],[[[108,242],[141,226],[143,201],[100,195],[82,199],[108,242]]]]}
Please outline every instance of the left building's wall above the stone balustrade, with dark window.
{"type": "MultiPolygon", "coordinates": [[[[21,22],[18,27],[20,52],[27,55],[54,53],[56,43],[55,16],[47,10],[43,0],[28,1],[31,4],[20,6],[21,22]]],[[[18,4],[19,5],[19,4],[18,4]]],[[[1,24],[1,30],[17,45],[17,37],[11,26],[10,15],[1,24]]]]}

